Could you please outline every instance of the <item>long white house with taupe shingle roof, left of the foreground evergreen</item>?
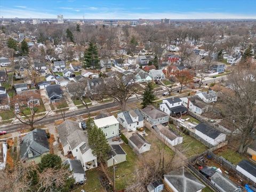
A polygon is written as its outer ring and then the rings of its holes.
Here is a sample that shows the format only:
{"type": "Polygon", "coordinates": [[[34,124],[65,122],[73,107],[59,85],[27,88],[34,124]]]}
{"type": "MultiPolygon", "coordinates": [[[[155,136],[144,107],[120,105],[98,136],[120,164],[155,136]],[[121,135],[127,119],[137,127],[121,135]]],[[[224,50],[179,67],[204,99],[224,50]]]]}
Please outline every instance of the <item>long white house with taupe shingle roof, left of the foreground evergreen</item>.
{"type": "Polygon", "coordinates": [[[88,145],[87,132],[83,131],[79,123],[66,120],[57,126],[57,131],[64,155],[71,151],[81,161],[85,171],[98,166],[97,157],[92,154],[88,145]]]}

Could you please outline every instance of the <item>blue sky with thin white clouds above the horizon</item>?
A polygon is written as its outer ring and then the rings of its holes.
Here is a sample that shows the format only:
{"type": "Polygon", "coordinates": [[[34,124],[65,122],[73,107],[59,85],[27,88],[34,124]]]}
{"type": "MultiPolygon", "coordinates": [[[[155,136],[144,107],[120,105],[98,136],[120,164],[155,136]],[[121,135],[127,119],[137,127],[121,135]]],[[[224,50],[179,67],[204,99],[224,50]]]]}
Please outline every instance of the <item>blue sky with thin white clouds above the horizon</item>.
{"type": "Polygon", "coordinates": [[[0,0],[0,17],[64,19],[256,19],[256,0],[0,0]]]}

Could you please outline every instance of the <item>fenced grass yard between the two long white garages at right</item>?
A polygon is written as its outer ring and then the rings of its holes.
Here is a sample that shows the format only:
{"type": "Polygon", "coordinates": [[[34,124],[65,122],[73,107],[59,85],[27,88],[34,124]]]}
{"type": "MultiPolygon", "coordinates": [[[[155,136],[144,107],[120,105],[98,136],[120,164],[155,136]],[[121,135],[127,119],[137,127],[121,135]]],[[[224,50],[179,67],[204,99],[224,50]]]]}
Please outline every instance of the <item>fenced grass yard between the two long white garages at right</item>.
{"type": "Polygon", "coordinates": [[[181,153],[186,155],[186,157],[191,157],[200,153],[203,153],[208,148],[203,145],[200,141],[191,137],[190,135],[181,134],[183,137],[183,142],[175,146],[181,153]]]}

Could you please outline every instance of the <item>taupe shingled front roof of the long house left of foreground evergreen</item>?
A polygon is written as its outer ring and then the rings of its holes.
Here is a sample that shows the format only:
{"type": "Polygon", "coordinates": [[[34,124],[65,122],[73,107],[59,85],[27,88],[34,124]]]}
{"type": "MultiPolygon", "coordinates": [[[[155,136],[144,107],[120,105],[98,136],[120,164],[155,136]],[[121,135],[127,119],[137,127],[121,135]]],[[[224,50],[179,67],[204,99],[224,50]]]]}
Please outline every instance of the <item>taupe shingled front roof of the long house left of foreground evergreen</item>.
{"type": "Polygon", "coordinates": [[[57,126],[57,131],[63,147],[69,143],[70,148],[74,149],[82,142],[88,142],[86,132],[79,127],[77,122],[66,120],[57,126]]]}

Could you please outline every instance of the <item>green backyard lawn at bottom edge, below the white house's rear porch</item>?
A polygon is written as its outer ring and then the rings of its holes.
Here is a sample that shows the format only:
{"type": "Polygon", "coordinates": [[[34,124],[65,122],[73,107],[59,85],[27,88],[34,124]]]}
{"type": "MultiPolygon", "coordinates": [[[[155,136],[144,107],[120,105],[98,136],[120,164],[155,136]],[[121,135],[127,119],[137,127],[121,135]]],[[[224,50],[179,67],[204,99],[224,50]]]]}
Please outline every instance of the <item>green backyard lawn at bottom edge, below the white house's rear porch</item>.
{"type": "Polygon", "coordinates": [[[99,171],[97,168],[86,171],[86,182],[84,186],[79,185],[79,188],[74,190],[74,192],[81,192],[84,189],[85,191],[103,191],[103,187],[100,184],[99,180],[99,171]]]}

